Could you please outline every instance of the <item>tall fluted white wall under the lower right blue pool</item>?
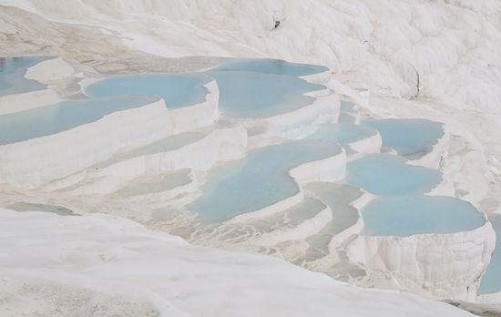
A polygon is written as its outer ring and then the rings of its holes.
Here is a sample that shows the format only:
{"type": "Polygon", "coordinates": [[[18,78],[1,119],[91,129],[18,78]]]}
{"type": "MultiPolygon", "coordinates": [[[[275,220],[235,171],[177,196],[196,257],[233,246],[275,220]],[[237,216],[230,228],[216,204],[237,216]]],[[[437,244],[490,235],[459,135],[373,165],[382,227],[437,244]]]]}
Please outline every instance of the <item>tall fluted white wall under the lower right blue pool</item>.
{"type": "Polygon", "coordinates": [[[360,235],[348,246],[348,254],[374,279],[393,279],[400,289],[475,302],[495,243],[496,233],[486,222],[476,230],[447,234],[360,235]]]}

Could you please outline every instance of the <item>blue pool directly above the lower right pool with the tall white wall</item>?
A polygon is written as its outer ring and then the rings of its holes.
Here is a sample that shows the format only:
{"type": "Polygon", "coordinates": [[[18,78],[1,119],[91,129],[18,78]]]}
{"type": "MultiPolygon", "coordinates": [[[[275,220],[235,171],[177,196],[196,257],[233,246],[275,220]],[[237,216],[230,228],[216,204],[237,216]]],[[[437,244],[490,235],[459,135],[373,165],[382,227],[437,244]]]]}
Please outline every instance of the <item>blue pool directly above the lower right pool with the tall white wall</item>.
{"type": "Polygon", "coordinates": [[[369,154],[346,165],[344,182],[379,196],[425,193],[442,181],[435,169],[405,164],[405,159],[388,154],[369,154]]]}

